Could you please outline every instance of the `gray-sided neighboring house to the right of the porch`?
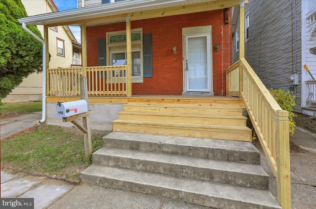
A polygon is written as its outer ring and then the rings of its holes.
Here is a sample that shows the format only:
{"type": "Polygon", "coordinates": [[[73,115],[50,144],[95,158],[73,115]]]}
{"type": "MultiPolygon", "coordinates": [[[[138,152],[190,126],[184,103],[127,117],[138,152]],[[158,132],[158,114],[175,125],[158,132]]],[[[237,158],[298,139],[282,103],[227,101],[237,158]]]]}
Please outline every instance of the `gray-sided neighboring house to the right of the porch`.
{"type": "MultiPolygon", "coordinates": [[[[268,89],[281,88],[296,95],[297,125],[312,119],[308,123],[314,131],[315,16],[316,0],[249,0],[245,6],[246,60],[268,89]]],[[[238,22],[238,8],[233,8],[233,63],[238,60],[238,22]]]]}

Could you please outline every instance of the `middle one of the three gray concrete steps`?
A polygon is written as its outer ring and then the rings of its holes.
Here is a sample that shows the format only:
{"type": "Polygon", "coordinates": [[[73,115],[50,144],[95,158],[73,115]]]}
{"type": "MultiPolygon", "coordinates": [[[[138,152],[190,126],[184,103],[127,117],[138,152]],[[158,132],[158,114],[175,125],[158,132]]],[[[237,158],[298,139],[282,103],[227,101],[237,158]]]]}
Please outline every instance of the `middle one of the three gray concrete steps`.
{"type": "Polygon", "coordinates": [[[258,165],[105,147],[93,153],[93,164],[269,190],[258,165]]]}

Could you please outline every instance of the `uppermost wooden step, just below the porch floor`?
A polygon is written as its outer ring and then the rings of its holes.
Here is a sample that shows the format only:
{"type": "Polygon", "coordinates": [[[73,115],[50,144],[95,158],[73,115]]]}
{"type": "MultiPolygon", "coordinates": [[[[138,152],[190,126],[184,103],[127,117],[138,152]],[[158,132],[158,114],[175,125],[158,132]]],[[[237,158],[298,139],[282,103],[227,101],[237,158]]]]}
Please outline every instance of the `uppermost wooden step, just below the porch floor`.
{"type": "Polygon", "coordinates": [[[195,115],[242,115],[241,107],[226,105],[214,106],[200,104],[128,103],[123,105],[123,110],[126,112],[158,112],[195,115]]]}

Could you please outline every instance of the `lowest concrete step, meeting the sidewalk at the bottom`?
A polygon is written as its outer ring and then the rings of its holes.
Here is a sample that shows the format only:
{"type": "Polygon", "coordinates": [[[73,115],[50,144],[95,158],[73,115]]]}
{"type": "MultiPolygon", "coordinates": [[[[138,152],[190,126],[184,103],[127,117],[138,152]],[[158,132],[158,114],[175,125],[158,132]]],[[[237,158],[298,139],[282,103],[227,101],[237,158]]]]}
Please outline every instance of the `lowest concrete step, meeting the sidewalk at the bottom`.
{"type": "Polygon", "coordinates": [[[83,183],[138,192],[220,209],[280,209],[269,191],[176,178],[118,167],[92,165],[81,172],[83,183]]]}

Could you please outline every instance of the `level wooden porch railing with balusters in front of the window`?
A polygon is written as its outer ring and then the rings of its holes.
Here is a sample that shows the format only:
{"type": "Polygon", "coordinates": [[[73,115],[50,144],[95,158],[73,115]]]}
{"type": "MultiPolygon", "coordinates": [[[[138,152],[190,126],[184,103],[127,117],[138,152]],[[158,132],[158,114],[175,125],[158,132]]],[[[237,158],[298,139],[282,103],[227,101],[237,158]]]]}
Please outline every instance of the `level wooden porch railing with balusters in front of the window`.
{"type": "Polygon", "coordinates": [[[47,69],[47,95],[80,95],[79,78],[87,77],[88,95],[127,95],[126,65],[47,69]]]}

